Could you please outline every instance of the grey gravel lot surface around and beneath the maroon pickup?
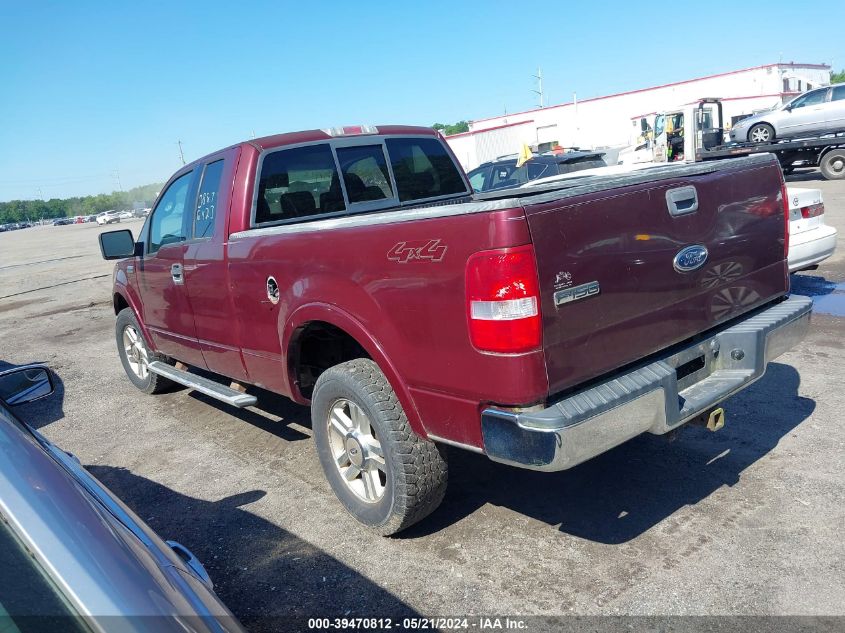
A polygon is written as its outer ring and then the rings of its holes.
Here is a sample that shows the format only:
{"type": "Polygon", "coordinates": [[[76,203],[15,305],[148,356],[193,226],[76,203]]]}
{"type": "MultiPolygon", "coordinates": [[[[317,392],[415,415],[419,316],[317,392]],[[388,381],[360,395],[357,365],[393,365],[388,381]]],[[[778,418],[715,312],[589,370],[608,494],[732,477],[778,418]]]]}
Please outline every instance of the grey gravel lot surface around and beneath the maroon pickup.
{"type": "Polygon", "coordinates": [[[839,250],[793,277],[817,297],[812,332],[727,402],[725,429],[641,436],[556,474],[453,450],[442,507],[398,538],[335,500],[308,409],[129,383],[95,224],[0,234],[0,361],[56,370],[59,392],[21,417],[191,548],[253,630],[288,615],[845,615],[845,182],[789,180],[824,191],[839,250]]]}

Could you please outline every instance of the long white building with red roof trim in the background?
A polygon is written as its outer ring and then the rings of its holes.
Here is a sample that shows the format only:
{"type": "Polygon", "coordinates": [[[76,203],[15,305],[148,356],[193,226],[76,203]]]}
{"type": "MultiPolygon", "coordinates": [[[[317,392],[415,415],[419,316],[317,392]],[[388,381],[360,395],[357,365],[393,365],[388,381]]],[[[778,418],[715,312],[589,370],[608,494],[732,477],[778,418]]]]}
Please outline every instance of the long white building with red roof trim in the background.
{"type": "Polygon", "coordinates": [[[725,124],[830,83],[825,64],[779,63],[472,121],[446,138],[465,169],[519,151],[554,145],[609,148],[631,143],[639,118],[703,97],[723,100],[725,124]]]}

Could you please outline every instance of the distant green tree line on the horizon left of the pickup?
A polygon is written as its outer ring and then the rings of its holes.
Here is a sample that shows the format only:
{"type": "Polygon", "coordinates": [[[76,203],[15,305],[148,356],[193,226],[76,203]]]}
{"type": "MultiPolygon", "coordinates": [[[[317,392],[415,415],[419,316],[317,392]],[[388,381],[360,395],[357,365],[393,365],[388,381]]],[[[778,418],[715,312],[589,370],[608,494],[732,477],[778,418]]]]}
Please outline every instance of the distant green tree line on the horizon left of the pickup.
{"type": "Polygon", "coordinates": [[[94,196],[0,202],[0,224],[72,218],[77,215],[94,215],[112,209],[121,211],[131,209],[135,203],[143,203],[145,207],[149,207],[162,185],[163,183],[153,183],[127,191],[112,191],[94,196]]]}

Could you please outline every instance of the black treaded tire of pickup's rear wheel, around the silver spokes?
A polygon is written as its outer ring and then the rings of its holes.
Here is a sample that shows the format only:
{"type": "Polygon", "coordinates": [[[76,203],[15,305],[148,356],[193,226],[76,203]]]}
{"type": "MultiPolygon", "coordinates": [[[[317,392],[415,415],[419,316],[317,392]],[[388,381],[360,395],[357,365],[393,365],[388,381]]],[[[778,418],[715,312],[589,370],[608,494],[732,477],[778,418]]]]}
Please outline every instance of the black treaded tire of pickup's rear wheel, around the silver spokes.
{"type": "MultiPolygon", "coordinates": [[[[440,505],[448,480],[446,457],[434,442],[414,433],[390,383],[373,361],[352,360],[323,372],[314,387],[311,419],[314,443],[326,479],[358,521],[389,536],[424,519],[440,505]],[[383,472],[377,475],[384,480],[382,496],[377,500],[367,501],[356,494],[352,485],[358,478],[363,482],[363,469],[355,481],[347,483],[333,452],[332,442],[337,447],[337,438],[341,436],[330,439],[335,431],[330,431],[329,420],[335,407],[343,402],[360,407],[368,418],[373,438],[381,445],[383,472]]],[[[350,454],[355,453],[354,446],[350,454]]],[[[361,455],[367,454],[367,450],[361,449],[361,455]]],[[[352,462],[347,462],[351,467],[352,462]]]]}

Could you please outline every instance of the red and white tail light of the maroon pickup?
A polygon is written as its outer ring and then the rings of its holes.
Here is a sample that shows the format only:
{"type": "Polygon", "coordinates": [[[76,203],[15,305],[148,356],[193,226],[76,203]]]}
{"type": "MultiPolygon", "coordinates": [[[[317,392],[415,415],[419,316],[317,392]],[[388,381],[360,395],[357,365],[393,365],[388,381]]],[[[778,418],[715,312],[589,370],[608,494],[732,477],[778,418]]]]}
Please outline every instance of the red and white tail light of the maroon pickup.
{"type": "Polygon", "coordinates": [[[475,253],[467,262],[466,295],[476,349],[516,354],[540,347],[540,287],[532,246],[475,253]]]}

